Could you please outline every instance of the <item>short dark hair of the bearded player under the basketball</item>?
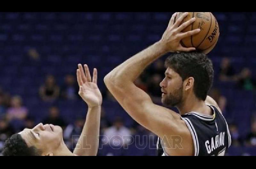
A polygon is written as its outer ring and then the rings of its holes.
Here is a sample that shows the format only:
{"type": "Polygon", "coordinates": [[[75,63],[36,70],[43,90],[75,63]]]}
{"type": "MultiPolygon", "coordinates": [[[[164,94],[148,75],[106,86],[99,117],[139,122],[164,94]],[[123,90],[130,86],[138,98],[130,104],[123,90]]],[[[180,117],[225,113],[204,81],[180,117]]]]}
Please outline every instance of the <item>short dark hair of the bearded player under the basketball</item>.
{"type": "Polygon", "coordinates": [[[205,100],[212,87],[212,61],[203,53],[180,52],[172,53],[165,60],[165,67],[172,68],[184,81],[194,77],[194,93],[198,99],[205,100]]]}

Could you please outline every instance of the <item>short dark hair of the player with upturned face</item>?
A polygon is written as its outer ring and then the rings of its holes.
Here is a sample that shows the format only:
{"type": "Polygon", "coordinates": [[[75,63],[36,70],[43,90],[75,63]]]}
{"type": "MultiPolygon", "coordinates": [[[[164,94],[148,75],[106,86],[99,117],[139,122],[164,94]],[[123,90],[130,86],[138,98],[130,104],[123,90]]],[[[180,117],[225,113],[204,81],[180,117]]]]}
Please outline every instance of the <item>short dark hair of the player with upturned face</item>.
{"type": "Polygon", "coordinates": [[[4,156],[41,156],[41,151],[35,146],[28,147],[20,134],[14,134],[5,141],[4,156]]]}

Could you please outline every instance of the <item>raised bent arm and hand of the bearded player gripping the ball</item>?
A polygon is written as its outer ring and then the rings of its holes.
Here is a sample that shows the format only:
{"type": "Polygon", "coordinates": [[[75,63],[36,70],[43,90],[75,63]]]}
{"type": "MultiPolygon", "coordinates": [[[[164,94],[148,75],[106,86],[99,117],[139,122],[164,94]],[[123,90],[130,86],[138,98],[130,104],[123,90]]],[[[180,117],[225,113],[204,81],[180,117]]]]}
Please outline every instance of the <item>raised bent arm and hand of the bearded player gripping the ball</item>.
{"type": "Polygon", "coordinates": [[[195,48],[184,48],[180,44],[180,40],[184,37],[191,36],[200,31],[200,29],[196,29],[181,33],[195,19],[190,19],[180,25],[182,20],[187,16],[187,13],[183,14],[174,23],[175,16],[176,13],[172,15],[161,40],[132,56],[108,73],[104,78],[108,90],[127,113],[135,121],[153,131],[161,138],[166,134],[183,135],[185,133],[184,136],[187,136],[189,131],[186,124],[180,119],[180,115],[170,109],[155,105],[149,95],[136,87],[133,82],[150,63],[167,52],[195,50],[195,48]]]}

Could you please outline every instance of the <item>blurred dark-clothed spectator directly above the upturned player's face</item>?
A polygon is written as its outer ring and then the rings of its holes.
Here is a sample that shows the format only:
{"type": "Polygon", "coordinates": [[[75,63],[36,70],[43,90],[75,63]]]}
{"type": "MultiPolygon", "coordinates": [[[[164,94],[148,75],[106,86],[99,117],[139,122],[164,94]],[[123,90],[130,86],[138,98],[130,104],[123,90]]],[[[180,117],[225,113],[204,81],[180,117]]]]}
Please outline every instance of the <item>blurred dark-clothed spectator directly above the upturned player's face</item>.
{"type": "Polygon", "coordinates": [[[49,116],[44,119],[43,124],[53,124],[65,129],[67,126],[66,122],[60,117],[59,114],[59,109],[57,107],[50,107],[49,116]]]}

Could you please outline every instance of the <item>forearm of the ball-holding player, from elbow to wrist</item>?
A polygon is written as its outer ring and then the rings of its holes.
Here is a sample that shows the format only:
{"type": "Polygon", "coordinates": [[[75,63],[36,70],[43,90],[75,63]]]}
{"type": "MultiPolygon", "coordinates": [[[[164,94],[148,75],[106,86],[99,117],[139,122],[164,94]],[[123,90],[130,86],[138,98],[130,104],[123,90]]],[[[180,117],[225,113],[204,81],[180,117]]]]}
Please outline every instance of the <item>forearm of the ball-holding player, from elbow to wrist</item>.
{"type": "Polygon", "coordinates": [[[110,80],[115,85],[125,85],[126,82],[133,82],[150,63],[166,52],[161,42],[156,42],[117,66],[108,73],[104,81],[110,80]]]}

